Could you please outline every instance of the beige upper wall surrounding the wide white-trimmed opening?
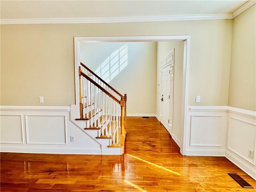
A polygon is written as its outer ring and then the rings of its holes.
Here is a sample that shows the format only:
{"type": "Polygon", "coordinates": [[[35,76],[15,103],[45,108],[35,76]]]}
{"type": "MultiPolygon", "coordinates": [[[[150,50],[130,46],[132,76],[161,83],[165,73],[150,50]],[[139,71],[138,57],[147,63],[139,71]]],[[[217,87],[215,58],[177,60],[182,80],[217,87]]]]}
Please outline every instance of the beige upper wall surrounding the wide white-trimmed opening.
{"type": "Polygon", "coordinates": [[[152,35],[191,35],[189,105],[228,104],[232,20],[194,20],[2,25],[1,105],[74,104],[75,36],[152,35]]]}

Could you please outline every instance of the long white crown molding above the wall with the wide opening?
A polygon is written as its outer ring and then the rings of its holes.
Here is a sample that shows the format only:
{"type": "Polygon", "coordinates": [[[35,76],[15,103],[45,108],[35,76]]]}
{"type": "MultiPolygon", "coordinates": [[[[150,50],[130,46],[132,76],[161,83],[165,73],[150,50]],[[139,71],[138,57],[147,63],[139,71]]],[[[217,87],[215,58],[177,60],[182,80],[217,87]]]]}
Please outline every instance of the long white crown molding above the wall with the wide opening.
{"type": "Polygon", "coordinates": [[[169,15],[143,17],[110,17],[110,18],[46,18],[46,19],[1,19],[0,24],[82,24],[82,23],[124,23],[232,19],[231,13],[203,15],[169,15]]]}

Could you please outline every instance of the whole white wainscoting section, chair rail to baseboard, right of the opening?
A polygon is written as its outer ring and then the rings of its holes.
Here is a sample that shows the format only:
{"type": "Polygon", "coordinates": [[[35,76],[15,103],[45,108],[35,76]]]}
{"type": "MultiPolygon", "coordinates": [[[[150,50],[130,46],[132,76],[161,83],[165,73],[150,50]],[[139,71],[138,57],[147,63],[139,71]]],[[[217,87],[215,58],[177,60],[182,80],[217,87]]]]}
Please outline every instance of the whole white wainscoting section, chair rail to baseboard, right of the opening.
{"type": "Polygon", "coordinates": [[[189,106],[186,122],[186,155],[225,155],[226,108],[189,106]]]}

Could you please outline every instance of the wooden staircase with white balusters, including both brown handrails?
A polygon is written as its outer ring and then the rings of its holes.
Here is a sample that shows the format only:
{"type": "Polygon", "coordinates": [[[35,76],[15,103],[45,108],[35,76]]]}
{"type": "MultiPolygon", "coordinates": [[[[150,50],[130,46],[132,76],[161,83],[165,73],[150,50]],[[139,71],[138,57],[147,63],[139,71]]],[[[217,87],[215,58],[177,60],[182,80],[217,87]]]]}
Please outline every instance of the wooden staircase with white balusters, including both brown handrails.
{"type": "Polygon", "coordinates": [[[124,153],[126,94],[120,94],[82,62],[78,72],[80,116],[75,120],[84,122],[84,131],[105,147],[104,154],[124,153]]]}

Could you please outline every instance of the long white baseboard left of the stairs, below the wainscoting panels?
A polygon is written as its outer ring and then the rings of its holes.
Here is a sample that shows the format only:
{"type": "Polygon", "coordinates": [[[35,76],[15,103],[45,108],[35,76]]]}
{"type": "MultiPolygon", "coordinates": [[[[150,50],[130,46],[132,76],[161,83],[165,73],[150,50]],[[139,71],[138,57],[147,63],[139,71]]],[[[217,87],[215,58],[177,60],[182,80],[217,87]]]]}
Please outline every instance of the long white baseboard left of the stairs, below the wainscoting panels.
{"type": "Polygon", "coordinates": [[[29,146],[1,146],[1,152],[11,153],[39,153],[39,154],[101,154],[100,148],[64,148],[64,147],[29,147],[29,146]]]}

